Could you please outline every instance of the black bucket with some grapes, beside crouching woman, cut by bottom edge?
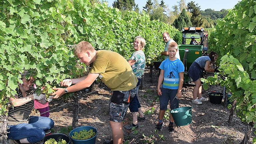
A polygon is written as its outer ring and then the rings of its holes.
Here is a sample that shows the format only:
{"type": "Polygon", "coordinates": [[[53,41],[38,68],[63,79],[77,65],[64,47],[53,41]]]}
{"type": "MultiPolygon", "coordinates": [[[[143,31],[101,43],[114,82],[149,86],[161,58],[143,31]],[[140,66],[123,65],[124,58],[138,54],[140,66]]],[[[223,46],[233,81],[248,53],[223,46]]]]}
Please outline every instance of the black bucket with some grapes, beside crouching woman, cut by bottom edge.
{"type": "Polygon", "coordinates": [[[60,142],[61,144],[71,144],[71,139],[61,133],[50,134],[44,137],[43,144],[53,144],[54,141],[60,142]]]}

